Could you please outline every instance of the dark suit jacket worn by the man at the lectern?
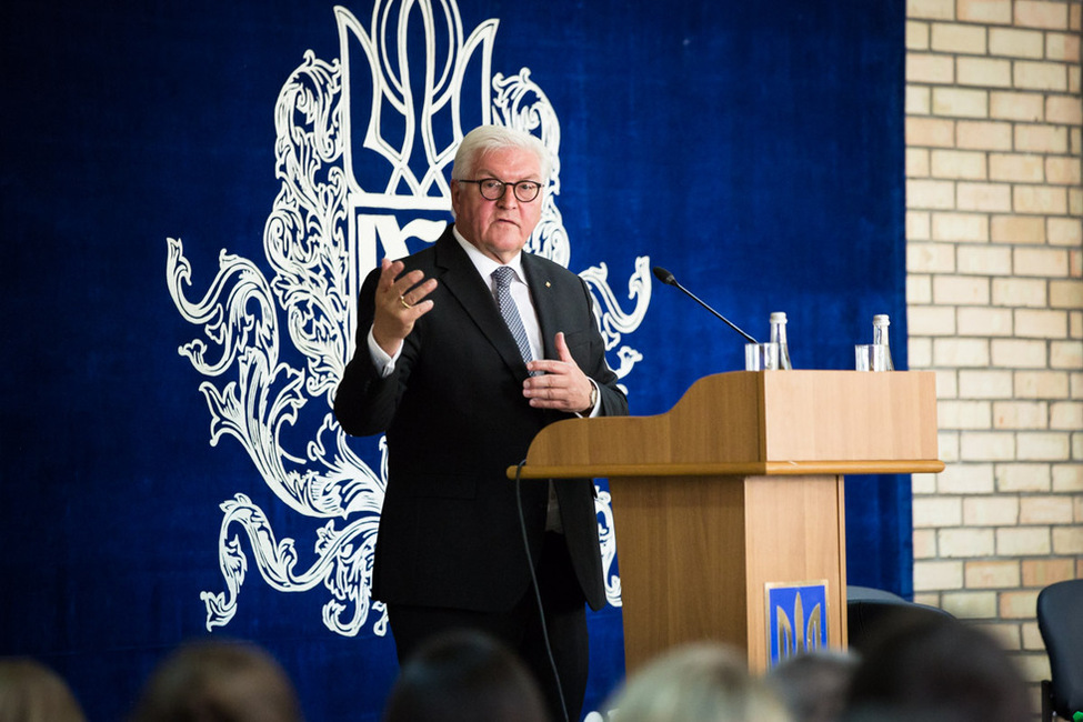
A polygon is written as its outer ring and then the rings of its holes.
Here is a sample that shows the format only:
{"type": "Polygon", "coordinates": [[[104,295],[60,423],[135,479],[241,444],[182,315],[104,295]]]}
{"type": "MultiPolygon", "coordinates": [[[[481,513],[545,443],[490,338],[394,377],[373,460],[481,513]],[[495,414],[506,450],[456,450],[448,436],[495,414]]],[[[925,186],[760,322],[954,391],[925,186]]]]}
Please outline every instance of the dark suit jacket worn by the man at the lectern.
{"type": "MultiPolygon", "coordinates": [[[[570,414],[532,409],[523,398],[527,365],[487,283],[451,227],[430,248],[404,259],[439,283],[433,309],[403,343],[395,371],[380,379],[368,349],[375,284],[358,301],[354,358],[339,385],[334,413],[354,435],[385,432],[388,488],[380,519],[373,595],[388,603],[479,611],[511,609],[530,583],[507,469],[527,455],[543,427],[570,414]]],[[[604,358],[586,284],[546,259],[523,254],[523,270],[541,323],[545,358],[564,332],[579,367],[599,385],[601,412],[628,413],[628,401],[604,358]]],[[[561,521],[588,603],[605,603],[594,485],[556,481],[561,521]]],[[[521,483],[531,554],[538,560],[548,484],[521,483]]]]}

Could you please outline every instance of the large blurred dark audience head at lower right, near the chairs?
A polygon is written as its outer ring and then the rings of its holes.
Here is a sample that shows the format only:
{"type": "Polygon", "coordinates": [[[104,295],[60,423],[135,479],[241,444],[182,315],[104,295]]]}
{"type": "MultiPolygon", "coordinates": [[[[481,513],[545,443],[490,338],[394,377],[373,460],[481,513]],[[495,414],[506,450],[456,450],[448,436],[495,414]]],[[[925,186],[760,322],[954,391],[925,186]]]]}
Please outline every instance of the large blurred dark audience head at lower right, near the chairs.
{"type": "Polygon", "coordinates": [[[983,632],[900,610],[866,645],[848,721],[1017,722],[1032,715],[1022,676],[983,632]]]}

